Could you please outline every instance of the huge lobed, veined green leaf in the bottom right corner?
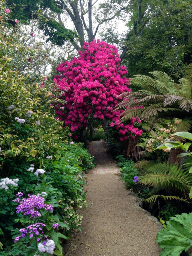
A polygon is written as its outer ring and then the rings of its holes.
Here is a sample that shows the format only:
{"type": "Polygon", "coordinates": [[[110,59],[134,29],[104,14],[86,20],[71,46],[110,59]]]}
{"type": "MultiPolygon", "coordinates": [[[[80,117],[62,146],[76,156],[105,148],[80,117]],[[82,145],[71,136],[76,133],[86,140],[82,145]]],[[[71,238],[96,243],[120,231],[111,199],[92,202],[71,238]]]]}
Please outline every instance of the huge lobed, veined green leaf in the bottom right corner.
{"type": "Polygon", "coordinates": [[[156,242],[163,250],[159,256],[180,256],[192,247],[192,214],[181,214],[171,217],[165,229],[158,232],[156,242]]]}

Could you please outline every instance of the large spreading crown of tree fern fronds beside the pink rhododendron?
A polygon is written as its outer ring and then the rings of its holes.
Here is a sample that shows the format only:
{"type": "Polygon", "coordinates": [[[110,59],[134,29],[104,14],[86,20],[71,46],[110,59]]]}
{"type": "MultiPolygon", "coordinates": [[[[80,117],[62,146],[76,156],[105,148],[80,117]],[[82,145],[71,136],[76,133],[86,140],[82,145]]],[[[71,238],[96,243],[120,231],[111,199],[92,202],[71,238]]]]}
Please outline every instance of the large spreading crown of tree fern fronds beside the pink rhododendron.
{"type": "MultiPolygon", "coordinates": [[[[116,109],[124,110],[121,120],[127,121],[133,116],[138,116],[141,120],[166,116],[189,118],[192,114],[192,64],[187,66],[186,76],[180,79],[179,83],[175,83],[161,71],[151,71],[150,74],[153,78],[144,75],[133,76],[131,83],[140,90],[120,95],[123,100],[116,109]],[[143,109],[133,110],[141,105],[144,106],[143,109]]],[[[191,126],[188,125],[186,129],[191,129],[191,126]]]]}

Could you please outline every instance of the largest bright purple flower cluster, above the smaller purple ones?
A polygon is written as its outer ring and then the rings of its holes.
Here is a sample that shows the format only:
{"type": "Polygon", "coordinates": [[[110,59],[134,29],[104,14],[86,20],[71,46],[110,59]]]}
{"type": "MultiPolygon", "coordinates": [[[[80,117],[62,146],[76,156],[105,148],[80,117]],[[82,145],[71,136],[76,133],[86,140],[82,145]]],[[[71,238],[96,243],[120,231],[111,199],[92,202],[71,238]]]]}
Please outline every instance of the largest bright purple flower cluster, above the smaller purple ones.
{"type": "MultiPolygon", "coordinates": [[[[19,198],[16,198],[16,200],[13,200],[14,202],[19,202],[19,198]]],[[[31,217],[40,217],[41,214],[39,209],[45,209],[48,211],[53,210],[52,205],[46,205],[44,203],[45,198],[42,198],[40,196],[36,195],[28,195],[28,198],[23,198],[19,205],[16,207],[16,213],[24,212],[24,215],[31,215],[31,217]]]]}

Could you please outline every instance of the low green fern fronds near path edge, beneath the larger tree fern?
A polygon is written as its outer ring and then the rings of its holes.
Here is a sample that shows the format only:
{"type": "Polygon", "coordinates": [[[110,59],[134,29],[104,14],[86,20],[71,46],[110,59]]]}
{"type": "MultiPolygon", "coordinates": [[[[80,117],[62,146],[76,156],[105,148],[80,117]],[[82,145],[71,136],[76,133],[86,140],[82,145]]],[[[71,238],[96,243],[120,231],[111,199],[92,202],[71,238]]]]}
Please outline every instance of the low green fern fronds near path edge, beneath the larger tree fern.
{"type": "MultiPolygon", "coordinates": [[[[138,166],[147,166],[148,161],[138,163],[138,166]]],[[[149,166],[149,165],[148,165],[149,166]]],[[[189,193],[189,188],[192,184],[192,177],[189,174],[188,168],[182,169],[177,164],[169,164],[168,162],[151,164],[145,170],[145,174],[140,177],[139,183],[146,186],[154,187],[147,198],[147,202],[155,201],[159,197],[159,192],[164,191],[164,199],[177,199],[185,201],[186,195],[189,193]],[[179,199],[180,198],[180,199],[179,199]],[[185,198],[185,199],[183,199],[185,198]]]]}

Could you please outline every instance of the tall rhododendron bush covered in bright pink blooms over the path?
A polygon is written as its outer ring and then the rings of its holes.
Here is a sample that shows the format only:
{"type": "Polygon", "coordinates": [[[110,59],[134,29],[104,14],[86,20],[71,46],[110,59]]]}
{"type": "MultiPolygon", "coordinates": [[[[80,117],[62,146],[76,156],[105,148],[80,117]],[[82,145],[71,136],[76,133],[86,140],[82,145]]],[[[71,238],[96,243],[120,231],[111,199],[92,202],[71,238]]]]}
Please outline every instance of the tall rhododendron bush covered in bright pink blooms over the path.
{"type": "Polygon", "coordinates": [[[86,128],[88,119],[111,120],[111,127],[118,129],[120,140],[127,136],[139,135],[142,130],[134,127],[141,122],[133,118],[129,124],[120,122],[123,110],[114,111],[114,107],[122,100],[116,98],[123,92],[131,91],[130,81],[125,77],[126,66],[120,66],[118,49],[98,39],[90,44],[84,43],[79,57],[70,62],[60,64],[56,70],[54,82],[63,90],[61,99],[65,102],[55,106],[58,119],[70,126],[73,138],[77,138],[78,129],[86,128]]]}

